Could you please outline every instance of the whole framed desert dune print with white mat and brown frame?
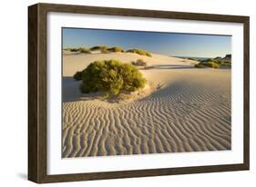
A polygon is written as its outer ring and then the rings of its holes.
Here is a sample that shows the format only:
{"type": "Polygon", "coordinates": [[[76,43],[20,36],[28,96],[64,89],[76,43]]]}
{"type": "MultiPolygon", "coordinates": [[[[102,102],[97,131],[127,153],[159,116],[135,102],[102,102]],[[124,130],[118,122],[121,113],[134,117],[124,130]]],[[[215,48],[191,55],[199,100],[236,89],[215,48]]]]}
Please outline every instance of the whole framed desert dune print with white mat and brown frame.
{"type": "Polygon", "coordinates": [[[28,179],[249,170],[249,17],[28,7],[28,179]]]}

